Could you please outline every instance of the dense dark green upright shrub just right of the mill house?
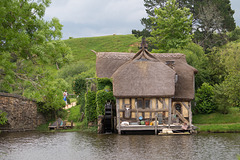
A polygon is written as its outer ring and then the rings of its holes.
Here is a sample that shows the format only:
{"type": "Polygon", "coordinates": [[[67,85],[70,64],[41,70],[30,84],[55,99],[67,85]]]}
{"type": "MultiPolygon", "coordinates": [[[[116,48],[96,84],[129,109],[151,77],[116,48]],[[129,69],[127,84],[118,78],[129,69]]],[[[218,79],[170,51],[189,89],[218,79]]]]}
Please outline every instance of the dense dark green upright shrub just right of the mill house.
{"type": "Polygon", "coordinates": [[[213,86],[203,83],[196,93],[196,111],[198,113],[212,113],[216,111],[216,105],[213,101],[213,86]]]}

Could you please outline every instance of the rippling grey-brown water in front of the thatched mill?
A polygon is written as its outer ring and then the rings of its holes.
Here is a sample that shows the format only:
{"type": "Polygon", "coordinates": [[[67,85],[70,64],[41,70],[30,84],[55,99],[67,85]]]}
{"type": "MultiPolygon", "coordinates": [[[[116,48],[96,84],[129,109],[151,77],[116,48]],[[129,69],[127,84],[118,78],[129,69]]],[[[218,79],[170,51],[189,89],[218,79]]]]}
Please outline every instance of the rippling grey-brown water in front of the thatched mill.
{"type": "Polygon", "coordinates": [[[232,160],[240,134],[179,136],[18,132],[0,134],[0,160],[232,160]]]}

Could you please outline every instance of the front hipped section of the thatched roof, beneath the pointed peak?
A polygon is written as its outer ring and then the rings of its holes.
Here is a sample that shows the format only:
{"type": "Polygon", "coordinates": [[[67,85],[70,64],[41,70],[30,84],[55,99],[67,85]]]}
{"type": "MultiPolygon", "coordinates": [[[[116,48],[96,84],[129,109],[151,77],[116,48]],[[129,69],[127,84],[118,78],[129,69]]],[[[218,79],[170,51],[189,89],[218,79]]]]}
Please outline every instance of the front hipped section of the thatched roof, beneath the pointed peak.
{"type": "Polygon", "coordinates": [[[176,72],[144,49],[112,75],[116,97],[172,97],[176,72]]]}

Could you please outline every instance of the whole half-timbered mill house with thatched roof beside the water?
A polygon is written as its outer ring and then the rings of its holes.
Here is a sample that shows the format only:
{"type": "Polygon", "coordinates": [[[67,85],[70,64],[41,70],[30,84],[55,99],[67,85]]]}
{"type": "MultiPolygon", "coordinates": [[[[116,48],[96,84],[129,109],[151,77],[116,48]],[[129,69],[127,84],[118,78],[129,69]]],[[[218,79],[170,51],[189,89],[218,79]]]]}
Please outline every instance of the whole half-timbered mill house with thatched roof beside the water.
{"type": "Polygon", "coordinates": [[[191,101],[197,70],[184,54],[151,54],[146,45],[136,53],[96,53],[97,77],[113,79],[117,130],[192,129],[191,101]],[[139,125],[142,118],[141,124],[139,125]],[[149,125],[148,125],[149,124],[149,125]]]}

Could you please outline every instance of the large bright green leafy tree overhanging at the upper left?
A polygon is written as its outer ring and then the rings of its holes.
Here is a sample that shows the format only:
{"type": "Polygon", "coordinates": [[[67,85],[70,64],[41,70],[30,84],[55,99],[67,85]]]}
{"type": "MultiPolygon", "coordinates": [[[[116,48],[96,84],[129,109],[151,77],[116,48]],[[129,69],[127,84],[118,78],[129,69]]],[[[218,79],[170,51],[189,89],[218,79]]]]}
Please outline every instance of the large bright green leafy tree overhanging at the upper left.
{"type": "Polygon", "coordinates": [[[57,18],[44,21],[50,0],[0,1],[1,91],[23,94],[30,85],[43,87],[49,65],[63,64],[71,51],[60,42],[62,25],[57,18]]]}

